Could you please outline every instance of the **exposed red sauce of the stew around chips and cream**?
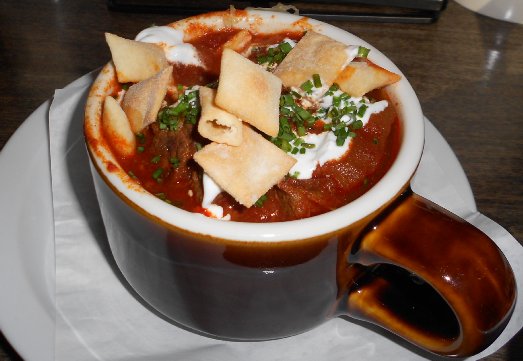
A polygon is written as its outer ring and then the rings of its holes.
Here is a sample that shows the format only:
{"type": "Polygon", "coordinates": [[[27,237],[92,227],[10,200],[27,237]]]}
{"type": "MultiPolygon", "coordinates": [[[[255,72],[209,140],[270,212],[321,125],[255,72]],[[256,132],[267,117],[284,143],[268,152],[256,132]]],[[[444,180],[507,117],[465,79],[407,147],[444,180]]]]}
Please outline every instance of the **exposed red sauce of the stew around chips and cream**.
{"type": "MultiPolygon", "coordinates": [[[[205,69],[175,65],[176,84],[205,85],[218,79],[223,43],[237,30],[205,33],[191,43],[198,49],[205,69]]],[[[255,34],[253,43],[260,47],[284,38],[298,40],[302,33],[255,34]]],[[[256,57],[256,52],[251,58],[256,57]]],[[[376,100],[388,99],[383,90],[369,94],[376,100]]],[[[318,133],[323,122],[317,121],[310,131],[318,133]]],[[[167,131],[153,124],[138,137],[135,155],[119,162],[145,189],[173,205],[191,212],[208,212],[201,207],[203,188],[201,168],[191,159],[199,145],[208,141],[199,136],[196,126],[183,126],[183,137],[161,139],[167,131]],[[190,139],[190,140],[187,140],[190,139]],[[183,144],[180,144],[183,143],[183,144]],[[158,157],[162,154],[161,157],[158,157]],[[175,155],[179,163],[170,162],[175,155]],[[161,169],[161,170],[160,170],[161,169]]],[[[356,199],[370,189],[390,168],[400,144],[400,122],[393,103],[371,116],[367,125],[356,130],[349,151],[339,160],[316,168],[311,179],[285,177],[267,194],[263,206],[246,208],[222,192],[213,203],[224,208],[232,220],[244,222],[279,222],[325,213],[356,199]]]]}

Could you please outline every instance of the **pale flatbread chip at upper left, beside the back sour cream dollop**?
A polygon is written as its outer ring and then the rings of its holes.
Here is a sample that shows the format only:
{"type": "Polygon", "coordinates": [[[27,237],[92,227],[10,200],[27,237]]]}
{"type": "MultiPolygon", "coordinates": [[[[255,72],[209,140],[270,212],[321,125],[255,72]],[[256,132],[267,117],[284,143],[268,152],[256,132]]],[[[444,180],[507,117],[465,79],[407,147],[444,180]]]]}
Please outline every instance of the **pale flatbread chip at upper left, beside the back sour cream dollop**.
{"type": "Polygon", "coordinates": [[[111,33],[105,33],[105,40],[120,83],[137,83],[169,66],[163,49],[156,44],[124,39],[111,33]]]}

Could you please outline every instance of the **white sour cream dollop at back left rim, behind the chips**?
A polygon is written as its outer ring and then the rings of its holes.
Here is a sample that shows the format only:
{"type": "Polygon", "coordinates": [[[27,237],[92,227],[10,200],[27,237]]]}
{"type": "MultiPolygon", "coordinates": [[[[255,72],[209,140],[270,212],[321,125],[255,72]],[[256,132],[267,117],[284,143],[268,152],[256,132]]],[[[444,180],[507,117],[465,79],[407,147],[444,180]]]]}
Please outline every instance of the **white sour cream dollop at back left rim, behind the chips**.
{"type": "Polygon", "coordinates": [[[136,35],[135,40],[161,46],[165,57],[171,63],[203,66],[196,48],[183,42],[183,32],[170,26],[152,26],[144,29],[136,35]]]}

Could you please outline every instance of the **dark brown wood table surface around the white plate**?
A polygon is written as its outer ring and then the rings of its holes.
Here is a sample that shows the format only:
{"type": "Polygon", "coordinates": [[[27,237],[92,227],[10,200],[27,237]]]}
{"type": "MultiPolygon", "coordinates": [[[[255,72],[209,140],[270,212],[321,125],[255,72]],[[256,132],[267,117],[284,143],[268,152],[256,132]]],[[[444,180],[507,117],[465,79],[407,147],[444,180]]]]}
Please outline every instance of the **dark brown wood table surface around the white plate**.
{"type": "MultiPolygon", "coordinates": [[[[133,38],[175,19],[111,12],[102,0],[0,2],[0,149],[55,89],[109,59],[104,31],[133,38]]],[[[402,69],[461,161],[478,209],[523,241],[523,25],[452,1],[434,24],[333,24],[402,69]]],[[[20,358],[0,334],[5,360],[20,358]]],[[[523,333],[485,360],[523,360],[523,333]]]]}

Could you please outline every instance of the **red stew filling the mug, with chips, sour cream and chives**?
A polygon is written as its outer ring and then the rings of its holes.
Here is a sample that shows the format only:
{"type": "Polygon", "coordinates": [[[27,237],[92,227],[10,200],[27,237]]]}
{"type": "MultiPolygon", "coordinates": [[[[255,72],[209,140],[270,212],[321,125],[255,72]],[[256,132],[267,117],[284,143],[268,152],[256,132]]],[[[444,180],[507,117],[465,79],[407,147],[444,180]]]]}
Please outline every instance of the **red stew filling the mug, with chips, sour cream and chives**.
{"type": "Polygon", "coordinates": [[[209,217],[281,222],[343,206],[388,170],[400,122],[384,87],[400,77],[369,49],[312,30],[202,34],[106,34],[119,90],[103,134],[147,191],[209,217]]]}

